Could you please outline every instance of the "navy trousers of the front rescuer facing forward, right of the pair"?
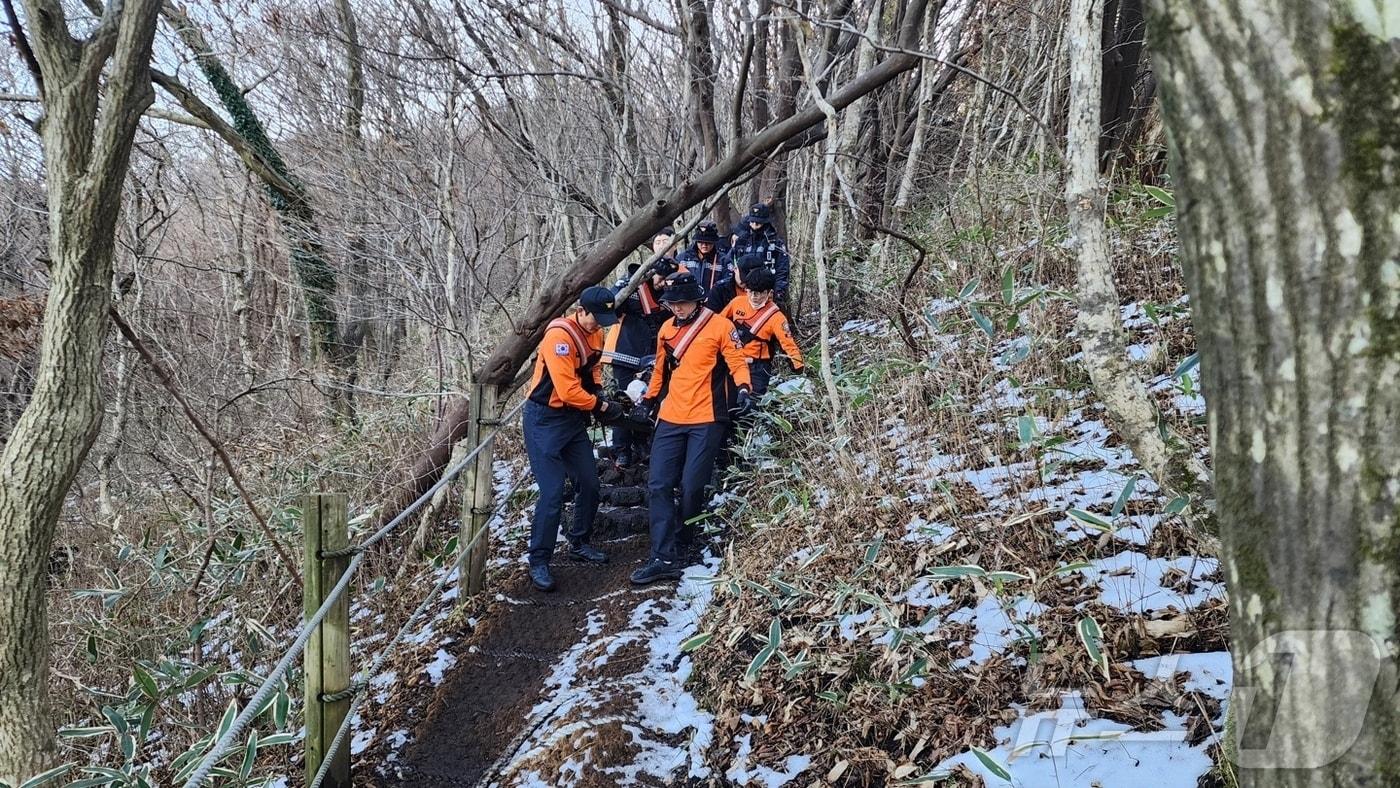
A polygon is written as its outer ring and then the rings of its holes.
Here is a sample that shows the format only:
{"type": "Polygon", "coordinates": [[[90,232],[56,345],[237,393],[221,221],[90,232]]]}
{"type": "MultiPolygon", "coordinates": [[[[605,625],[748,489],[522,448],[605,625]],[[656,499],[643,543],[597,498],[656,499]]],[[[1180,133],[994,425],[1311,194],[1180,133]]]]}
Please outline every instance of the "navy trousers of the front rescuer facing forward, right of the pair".
{"type": "Polygon", "coordinates": [[[704,511],[704,486],[724,446],[728,424],[672,424],[657,421],[651,438],[651,476],[647,493],[651,508],[651,557],[679,560],[693,542],[694,525],[686,521],[704,511]],[[676,487],[680,507],[676,507],[676,487]]]}

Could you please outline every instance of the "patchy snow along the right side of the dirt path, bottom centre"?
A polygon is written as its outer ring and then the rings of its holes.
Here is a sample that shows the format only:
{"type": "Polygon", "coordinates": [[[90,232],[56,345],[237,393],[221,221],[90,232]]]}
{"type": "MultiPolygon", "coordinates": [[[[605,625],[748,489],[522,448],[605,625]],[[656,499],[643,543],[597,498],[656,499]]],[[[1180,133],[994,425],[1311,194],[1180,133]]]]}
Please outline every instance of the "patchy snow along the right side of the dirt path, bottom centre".
{"type": "Polygon", "coordinates": [[[692,662],[680,645],[696,634],[718,567],[720,558],[711,556],[687,568],[673,596],[641,598],[620,628],[606,627],[598,610],[589,613],[531,711],[525,728],[533,732],[508,753],[494,784],[568,787],[602,777],[612,785],[651,785],[710,777],[704,752],[714,738],[714,718],[685,687],[692,662]],[[594,750],[584,747],[563,766],[533,767],[535,759],[560,746],[573,750],[577,736],[605,726],[627,738],[627,763],[595,763],[594,750]]]}

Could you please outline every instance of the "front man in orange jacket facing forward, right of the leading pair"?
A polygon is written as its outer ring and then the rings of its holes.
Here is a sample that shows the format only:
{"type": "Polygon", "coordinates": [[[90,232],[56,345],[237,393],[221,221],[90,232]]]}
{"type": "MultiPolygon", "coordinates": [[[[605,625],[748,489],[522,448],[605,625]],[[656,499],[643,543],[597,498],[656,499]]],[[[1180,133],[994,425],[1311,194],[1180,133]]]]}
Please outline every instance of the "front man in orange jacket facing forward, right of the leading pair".
{"type": "Polygon", "coordinates": [[[728,431],[731,416],[752,409],[749,365],[734,323],[700,305],[704,288],[689,272],[668,280],[661,300],[675,315],[657,337],[657,365],[643,400],[659,400],[651,439],[651,560],[631,582],[679,578],[693,540],[693,525],[704,507],[704,486],[728,431]],[[732,393],[738,388],[738,393],[732,393]],[[729,407],[729,403],[738,403],[729,407]],[[680,507],[676,507],[676,487],[680,507]]]}

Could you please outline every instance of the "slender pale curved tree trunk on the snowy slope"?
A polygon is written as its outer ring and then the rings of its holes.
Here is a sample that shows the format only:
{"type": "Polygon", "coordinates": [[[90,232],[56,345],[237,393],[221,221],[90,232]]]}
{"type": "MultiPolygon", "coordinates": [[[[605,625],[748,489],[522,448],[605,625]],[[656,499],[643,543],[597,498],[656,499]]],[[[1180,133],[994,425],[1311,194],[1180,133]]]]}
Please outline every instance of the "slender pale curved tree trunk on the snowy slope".
{"type": "Polygon", "coordinates": [[[1070,4],[1070,132],[1065,161],[1065,204],[1070,211],[1070,237],[1078,253],[1079,315],[1075,329],[1084,350],[1084,367],[1093,391],[1123,435],[1133,453],[1159,487],[1186,495],[1193,525],[1210,532],[1207,507],[1201,491],[1210,484],[1210,472],[1179,442],[1172,451],[1158,432],[1161,420],[1147,393],[1147,384],[1128,363],[1127,335],[1119,308],[1109,260],[1109,238],[1103,227],[1106,190],[1099,181],[1099,91],[1103,60],[1099,55],[1099,25],[1103,24],[1099,0],[1072,0],[1070,4]]]}

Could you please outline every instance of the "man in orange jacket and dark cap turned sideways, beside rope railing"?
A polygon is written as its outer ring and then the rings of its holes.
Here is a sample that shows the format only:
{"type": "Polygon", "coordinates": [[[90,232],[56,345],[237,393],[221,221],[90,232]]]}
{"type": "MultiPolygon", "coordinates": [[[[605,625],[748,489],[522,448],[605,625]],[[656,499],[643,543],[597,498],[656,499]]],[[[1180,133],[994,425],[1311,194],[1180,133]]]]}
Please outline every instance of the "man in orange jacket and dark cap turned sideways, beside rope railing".
{"type": "Polygon", "coordinates": [[[539,501],[529,533],[529,578],[540,591],[554,589],[549,560],[559,542],[564,507],[564,480],[574,483],[574,522],[568,529],[568,556],[578,561],[608,563],[602,550],[588,543],[598,514],[598,463],[588,438],[588,416],[602,421],[622,416],[622,409],[602,396],[602,326],[617,322],[613,294],[589,287],[578,308],[545,329],[525,403],[525,453],[539,483],[539,501]]]}

